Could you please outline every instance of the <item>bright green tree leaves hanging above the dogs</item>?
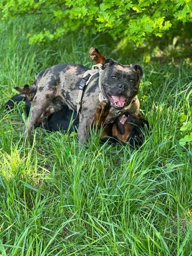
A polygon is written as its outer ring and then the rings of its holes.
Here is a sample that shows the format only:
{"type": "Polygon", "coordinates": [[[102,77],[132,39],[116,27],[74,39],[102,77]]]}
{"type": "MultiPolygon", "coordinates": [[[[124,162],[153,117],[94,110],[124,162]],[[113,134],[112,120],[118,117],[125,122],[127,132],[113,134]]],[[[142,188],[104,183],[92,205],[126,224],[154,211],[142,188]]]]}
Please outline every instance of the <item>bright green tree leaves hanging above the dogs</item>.
{"type": "Polygon", "coordinates": [[[28,35],[30,42],[52,41],[67,32],[107,32],[140,45],[162,37],[172,25],[192,22],[191,0],[1,0],[1,19],[39,15],[43,30],[28,35]]]}

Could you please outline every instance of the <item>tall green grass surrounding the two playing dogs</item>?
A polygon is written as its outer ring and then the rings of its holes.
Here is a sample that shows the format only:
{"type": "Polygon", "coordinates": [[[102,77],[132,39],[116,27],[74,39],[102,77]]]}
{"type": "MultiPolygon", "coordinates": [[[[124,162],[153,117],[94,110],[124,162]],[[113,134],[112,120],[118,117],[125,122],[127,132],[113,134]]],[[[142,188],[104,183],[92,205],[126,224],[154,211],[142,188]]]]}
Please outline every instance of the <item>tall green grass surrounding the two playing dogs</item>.
{"type": "Polygon", "coordinates": [[[77,134],[40,129],[28,147],[23,104],[3,111],[14,86],[55,63],[90,66],[96,43],[29,46],[32,29],[0,25],[0,255],[192,255],[192,146],[179,144],[180,114],[191,113],[191,66],[143,65],[139,98],[151,133],[138,149],[99,145],[93,133],[79,150],[77,134]]]}

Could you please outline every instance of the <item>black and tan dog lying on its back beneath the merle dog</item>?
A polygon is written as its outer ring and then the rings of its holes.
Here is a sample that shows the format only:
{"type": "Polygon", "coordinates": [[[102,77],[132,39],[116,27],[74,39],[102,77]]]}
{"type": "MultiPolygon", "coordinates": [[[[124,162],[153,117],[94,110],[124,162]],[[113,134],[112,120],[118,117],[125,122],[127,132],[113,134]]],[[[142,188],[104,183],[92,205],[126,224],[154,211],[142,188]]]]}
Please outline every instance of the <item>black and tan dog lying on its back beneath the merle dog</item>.
{"type": "MultiPolygon", "coordinates": [[[[106,60],[96,48],[89,50],[89,56],[97,64],[103,64],[106,60]]],[[[29,85],[25,85],[24,87],[16,87],[16,89],[21,94],[15,95],[8,100],[5,109],[12,109],[17,102],[25,101],[25,111],[27,116],[29,116],[31,102],[34,97],[29,92],[30,87],[29,85]]],[[[57,98],[51,105],[46,109],[41,118],[37,120],[35,127],[43,127],[49,132],[66,132],[69,129],[69,132],[72,132],[78,129],[79,116],[77,116],[76,111],[70,110],[66,105],[62,105],[62,102],[57,100],[57,98]],[[72,125],[70,125],[71,122],[72,125]]],[[[140,116],[133,116],[126,112],[116,118],[114,122],[103,125],[106,122],[110,110],[108,101],[103,100],[99,103],[95,111],[93,125],[97,127],[97,131],[102,127],[101,140],[106,141],[110,138],[110,141],[115,143],[128,143],[135,146],[141,145],[144,141],[144,131],[146,126],[148,127],[148,122],[140,116]]]]}

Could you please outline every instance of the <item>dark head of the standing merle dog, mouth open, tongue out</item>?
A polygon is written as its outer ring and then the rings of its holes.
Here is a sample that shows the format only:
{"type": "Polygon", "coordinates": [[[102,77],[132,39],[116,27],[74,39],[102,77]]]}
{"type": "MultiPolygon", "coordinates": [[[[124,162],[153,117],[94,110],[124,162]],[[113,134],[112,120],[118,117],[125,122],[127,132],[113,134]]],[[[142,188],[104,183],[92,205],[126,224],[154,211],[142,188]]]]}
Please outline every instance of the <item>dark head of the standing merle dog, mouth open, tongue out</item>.
{"type": "Polygon", "coordinates": [[[122,65],[108,59],[103,64],[102,93],[115,109],[123,109],[139,90],[143,70],[139,64],[122,65]]]}

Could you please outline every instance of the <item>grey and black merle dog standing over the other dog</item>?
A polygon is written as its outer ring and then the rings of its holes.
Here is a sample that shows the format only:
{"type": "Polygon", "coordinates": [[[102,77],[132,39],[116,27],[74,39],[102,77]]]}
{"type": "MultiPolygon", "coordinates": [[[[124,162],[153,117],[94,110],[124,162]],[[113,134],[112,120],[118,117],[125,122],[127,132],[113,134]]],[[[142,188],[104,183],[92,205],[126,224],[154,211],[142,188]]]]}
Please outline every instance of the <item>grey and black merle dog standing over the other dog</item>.
{"type": "MultiPolygon", "coordinates": [[[[53,101],[60,101],[70,109],[77,110],[78,85],[87,70],[86,67],[78,64],[60,64],[40,73],[29,90],[29,94],[35,96],[32,101],[31,117],[25,135],[31,136],[34,123],[53,101]]],[[[94,121],[94,113],[99,105],[100,92],[112,108],[121,110],[138,93],[140,78],[143,76],[140,65],[123,65],[112,59],[104,62],[102,71],[101,90],[98,86],[99,73],[96,73],[84,91],[78,129],[81,143],[86,141],[94,121]]],[[[131,112],[131,114],[138,116],[138,102],[132,104],[132,110],[134,113],[131,112]]],[[[117,116],[114,119],[118,116],[119,112],[117,111],[117,116]]]]}

